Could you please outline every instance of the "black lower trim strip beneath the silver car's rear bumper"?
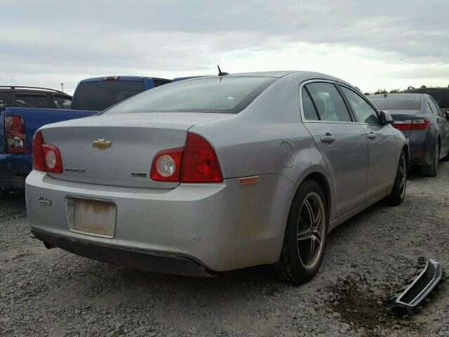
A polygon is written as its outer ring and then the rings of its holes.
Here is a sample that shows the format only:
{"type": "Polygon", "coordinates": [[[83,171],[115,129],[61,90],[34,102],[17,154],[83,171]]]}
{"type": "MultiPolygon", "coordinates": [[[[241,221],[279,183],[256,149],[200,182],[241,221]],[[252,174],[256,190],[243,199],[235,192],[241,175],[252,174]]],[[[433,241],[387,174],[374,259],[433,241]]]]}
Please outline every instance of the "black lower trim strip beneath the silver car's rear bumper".
{"type": "Polygon", "coordinates": [[[88,240],[63,237],[40,230],[32,230],[32,234],[36,239],[46,244],[48,248],[58,247],[70,253],[102,262],[127,265],[135,269],[152,272],[196,277],[213,276],[200,263],[185,256],[140,251],[137,249],[123,249],[88,240]]]}

